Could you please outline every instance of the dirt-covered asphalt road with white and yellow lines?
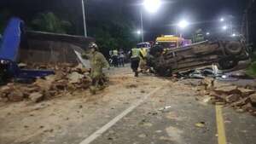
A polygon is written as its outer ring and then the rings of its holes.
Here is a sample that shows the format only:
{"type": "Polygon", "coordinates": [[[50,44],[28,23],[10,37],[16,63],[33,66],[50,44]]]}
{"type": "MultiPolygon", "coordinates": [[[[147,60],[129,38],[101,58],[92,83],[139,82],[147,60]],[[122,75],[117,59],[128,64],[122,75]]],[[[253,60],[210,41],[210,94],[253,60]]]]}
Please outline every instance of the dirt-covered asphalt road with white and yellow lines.
{"type": "Polygon", "coordinates": [[[197,101],[188,84],[133,78],[129,67],[110,75],[108,89],[97,95],[1,107],[0,144],[256,143],[253,116],[197,101]]]}

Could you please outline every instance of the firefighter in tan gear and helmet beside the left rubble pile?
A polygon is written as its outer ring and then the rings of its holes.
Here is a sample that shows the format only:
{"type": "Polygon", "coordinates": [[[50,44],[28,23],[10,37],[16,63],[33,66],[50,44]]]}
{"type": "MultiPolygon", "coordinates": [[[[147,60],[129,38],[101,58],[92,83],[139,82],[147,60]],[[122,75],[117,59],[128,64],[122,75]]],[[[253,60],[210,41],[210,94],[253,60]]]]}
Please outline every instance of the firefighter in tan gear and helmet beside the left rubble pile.
{"type": "Polygon", "coordinates": [[[103,68],[109,69],[108,60],[99,52],[96,43],[89,44],[90,53],[84,54],[84,59],[90,60],[90,78],[92,79],[92,84],[90,86],[91,94],[96,94],[96,91],[106,88],[107,79],[106,75],[103,73],[103,68]]]}

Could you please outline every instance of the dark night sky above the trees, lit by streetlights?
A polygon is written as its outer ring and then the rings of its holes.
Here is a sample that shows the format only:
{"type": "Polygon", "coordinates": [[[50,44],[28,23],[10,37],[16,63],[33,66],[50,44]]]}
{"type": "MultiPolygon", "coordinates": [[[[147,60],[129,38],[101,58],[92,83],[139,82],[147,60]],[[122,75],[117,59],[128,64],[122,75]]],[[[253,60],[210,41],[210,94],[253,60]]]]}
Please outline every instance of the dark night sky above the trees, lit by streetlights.
{"type": "MultiPolygon", "coordinates": [[[[139,28],[139,12],[142,8],[140,0],[86,0],[88,20],[111,19],[112,13],[124,14],[124,17],[136,22],[139,28]]],[[[237,27],[246,8],[247,0],[163,0],[156,14],[143,11],[147,39],[154,35],[172,32],[172,25],[180,19],[187,19],[193,25],[187,33],[202,28],[215,31],[221,16],[232,15],[237,27]]],[[[75,26],[82,26],[80,0],[1,0],[0,10],[9,9],[12,14],[23,20],[31,20],[38,12],[53,11],[61,18],[72,16],[75,26]]],[[[0,15],[1,16],[1,15],[0,15]]],[[[1,19],[1,17],[0,17],[1,19]]],[[[90,29],[90,25],[88,26],[90,29]]],[[[79,29],[78,29],[79,30],[79,29]]],[[[80,32],[74,32],[80,33],[80,32]]]]}

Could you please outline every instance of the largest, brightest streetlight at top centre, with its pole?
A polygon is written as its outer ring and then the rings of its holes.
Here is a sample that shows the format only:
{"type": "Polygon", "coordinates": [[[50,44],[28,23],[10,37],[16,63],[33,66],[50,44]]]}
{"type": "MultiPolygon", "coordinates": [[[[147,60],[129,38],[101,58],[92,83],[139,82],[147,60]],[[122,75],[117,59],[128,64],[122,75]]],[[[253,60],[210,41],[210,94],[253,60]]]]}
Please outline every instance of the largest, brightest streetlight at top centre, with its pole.
{"type": "MultiPolygon", "coordinates": [[[[148,11],[148,13],[155,13],[160,9],[161,1],[160,0],[144,0],[143,7],[148,11]]],[[[144,42],[144,28],[143,28],[143,9],[141,9],[141,35],[142,41],[144,42]]]]}

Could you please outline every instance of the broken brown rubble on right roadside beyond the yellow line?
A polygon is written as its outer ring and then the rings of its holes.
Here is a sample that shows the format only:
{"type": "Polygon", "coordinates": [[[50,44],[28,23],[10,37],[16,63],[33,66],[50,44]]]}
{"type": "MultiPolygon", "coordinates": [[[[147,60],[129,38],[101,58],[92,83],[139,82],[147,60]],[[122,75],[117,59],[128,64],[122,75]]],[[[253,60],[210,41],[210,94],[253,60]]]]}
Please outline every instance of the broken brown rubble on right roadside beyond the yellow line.
{"type": "Polygon", "coordinates": [[[201,81],[203,86],[199,93],[210,97],[213,104],[233,107],[237,112],[256,114],[256,90],[242,88],[236,85],[221,83],[213,78],[201,81]],[[206,95],[208,94],[208,95],[206,95]]]}

